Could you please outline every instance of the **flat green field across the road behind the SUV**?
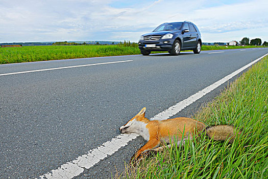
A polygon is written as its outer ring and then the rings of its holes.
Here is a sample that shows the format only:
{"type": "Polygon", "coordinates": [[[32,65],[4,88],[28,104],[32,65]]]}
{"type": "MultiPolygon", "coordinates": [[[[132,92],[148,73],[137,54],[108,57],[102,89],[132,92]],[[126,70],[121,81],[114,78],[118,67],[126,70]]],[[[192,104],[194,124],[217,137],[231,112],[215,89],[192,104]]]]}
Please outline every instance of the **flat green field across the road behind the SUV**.
{"type": "MultiPolygon", "coordinates": [[[[128,43],[110,46],[23,46],[21,48],[0,48],[0,64],[140,54],[137,46],[131,47],[132,44],[129,44],[125,47],[125,44],[128,43]]],[[[228,49],[236,48],[255,48],[255,46],[228,47],[228,49]]],[[[202,50],[221,49],[227,48],[224,46],[202,46],[202,50]]]]}

